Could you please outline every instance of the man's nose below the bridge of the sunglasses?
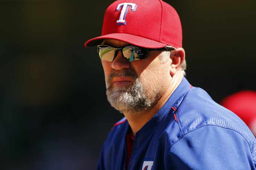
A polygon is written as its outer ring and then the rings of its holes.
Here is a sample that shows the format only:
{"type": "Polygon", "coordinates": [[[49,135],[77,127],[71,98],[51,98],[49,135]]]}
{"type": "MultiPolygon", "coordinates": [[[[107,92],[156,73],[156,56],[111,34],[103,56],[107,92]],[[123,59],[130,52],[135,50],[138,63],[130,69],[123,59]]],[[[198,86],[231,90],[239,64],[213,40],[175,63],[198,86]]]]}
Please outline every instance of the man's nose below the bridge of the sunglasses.
{"type": "Polygon", "coordinates": [[[121,70],[121,69],[129,69],[131,66],[130,61],[128,61],[125,57],[123,57],[122,52],[120,50],[117,51],[117,56],[112,61],[111,67],[115,70],[121,70]]]}

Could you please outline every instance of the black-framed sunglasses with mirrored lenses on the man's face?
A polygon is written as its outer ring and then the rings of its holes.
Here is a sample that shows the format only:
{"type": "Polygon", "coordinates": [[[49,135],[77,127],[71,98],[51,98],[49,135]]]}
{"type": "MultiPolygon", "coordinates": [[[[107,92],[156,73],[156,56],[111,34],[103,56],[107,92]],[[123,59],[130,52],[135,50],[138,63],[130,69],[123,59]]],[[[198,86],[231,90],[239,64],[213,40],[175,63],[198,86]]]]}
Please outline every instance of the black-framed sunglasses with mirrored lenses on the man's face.
{"type": "Polygon", "coordinates": [[[174,49],[175,48],[169,47],[169,46],[164,48],[157,48],[157,49],[142,48],[134,45],[126,45],[119,48],[111,47],[109,45],[97,46],[97,52],[100,55],[100,59],[105,61],[113,61],[117,56],[118,50],[122,52],[123,57],[125,57],[128,61],[136,61],[136,60],[146,59],[147,53],[149,51],[153,51],[153,50],[169,51],[174,49]]]}

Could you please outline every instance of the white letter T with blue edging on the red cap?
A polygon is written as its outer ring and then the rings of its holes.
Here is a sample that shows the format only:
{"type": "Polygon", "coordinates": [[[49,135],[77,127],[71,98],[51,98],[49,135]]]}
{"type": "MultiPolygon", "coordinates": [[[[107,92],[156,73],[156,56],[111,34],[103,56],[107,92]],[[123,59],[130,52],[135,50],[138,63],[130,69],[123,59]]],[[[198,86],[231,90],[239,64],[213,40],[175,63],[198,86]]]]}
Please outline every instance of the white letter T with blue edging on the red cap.
{"type": "Polygon", "coordinates": [[[134,3],[121,3],[121,4],[118,4],[116,10],[119,11],[122,8],[121,14],[120,14],[120,18],[119,18],[119,20],[117,20],[117,24],[118,25],[120,25],[120,24],[126,25],[125,17],[126,17],[126,14],[128,13],[129,7],[131,7],[131,11],[135,11],[137,5],[134,4],[134,3]]]}

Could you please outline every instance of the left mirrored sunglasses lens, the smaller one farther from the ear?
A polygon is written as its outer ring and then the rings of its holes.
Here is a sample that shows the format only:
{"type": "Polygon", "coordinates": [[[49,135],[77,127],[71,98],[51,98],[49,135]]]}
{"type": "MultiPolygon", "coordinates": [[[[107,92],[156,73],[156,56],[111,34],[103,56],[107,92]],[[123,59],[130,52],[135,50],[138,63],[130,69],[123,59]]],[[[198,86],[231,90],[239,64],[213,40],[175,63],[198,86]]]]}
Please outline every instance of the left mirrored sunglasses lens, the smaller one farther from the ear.
{"type": "Polygon", "coordinates": [[[113,47],[109,47],[106,45],[98,46],[98,53],[100,55],[101,60],[105,61],[113,61],[115,56],[115,49],[113,47]]]}

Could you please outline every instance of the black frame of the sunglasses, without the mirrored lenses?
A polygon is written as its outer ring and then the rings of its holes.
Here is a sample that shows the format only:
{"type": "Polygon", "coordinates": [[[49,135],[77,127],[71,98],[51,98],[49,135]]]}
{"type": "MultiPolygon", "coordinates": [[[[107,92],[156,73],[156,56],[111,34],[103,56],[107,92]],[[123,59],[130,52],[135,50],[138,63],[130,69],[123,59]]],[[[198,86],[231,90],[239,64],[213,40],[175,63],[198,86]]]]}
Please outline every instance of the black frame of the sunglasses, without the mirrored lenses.
{"type": "MultiPolygon", "coordinates": [[[[113,48],[113,49],[116,49],[116,50],[121,50],[121,53],[122,53],[122,56],[124,57],[124,54],[123,54],[123,48],[125,48],[125,47],[129,47],[129,46],[133,46],[134,47],[134,49],[141,49],[140,51],[143,51],[143,52],[145,52],[145,53],[143,53],[143,54],[145,54],[145,56],[144,57],[141,57],[141,58],[138,58],[139,60],[142,60],[142,59],[146,59],[147,58],[147,53],[149,52],[149,51],[154,51],[154,50],[159,50],[159,51],[171,51],[171,50],[174,50],[175,48],[174,47],[171,47],[171,46],[166,46],[166,47],[163,47],[163,48],[143,48],[143,47],[138,47],[138,46],[135,46],[135,45],[125,45],[125,46],[122,46],[122,47],[112,47],[112,46],[109,46],[109,45],[105,45],[105,44],[100,44],[100,45],[97,45],[97,52],[99,53],[99,47],[100,46],[106,46],[106,47],[111,47],[111,48],[113,48]]],[[[100,53],[99,53],[99,55],[100,55],[100,53]]],[[[142,54],[137,54],[137,55],[142,55],[142,54]]],[[[100,57],[101,58],[101,57],[100,57]]],[[[112,61],[114,61],[114,59],[116,58],[116,54],[114,55],[114,57],[113,57],[113,60],[112,61]]],[[[126,58],[126,57],[124,57],[124,58],[126,58]]],[[[128,58],[126,58],[127,60],[129,60],[128,58]]],[[[131,62],[131,61],[130,61],[131,62]]]]}

